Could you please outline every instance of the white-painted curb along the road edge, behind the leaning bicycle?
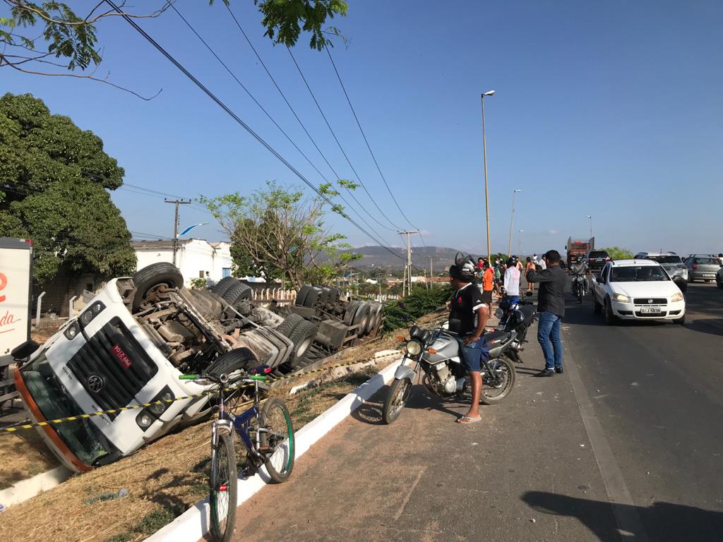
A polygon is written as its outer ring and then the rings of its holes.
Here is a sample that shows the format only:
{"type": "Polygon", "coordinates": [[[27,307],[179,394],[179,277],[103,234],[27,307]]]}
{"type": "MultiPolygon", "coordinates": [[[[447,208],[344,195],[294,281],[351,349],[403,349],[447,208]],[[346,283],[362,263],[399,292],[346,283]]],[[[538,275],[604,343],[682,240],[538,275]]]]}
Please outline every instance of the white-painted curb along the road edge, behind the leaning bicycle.
{"type": "MultiPolygon", "coordinates": [[[[394,361],[382,369],[372,378],[361,384],[356,390],[345,395],[333,407],[317,416],[313,421],[307,423],[296,432],[296,459],[299,459],[304,452],[312,445],[322,439],[325,434],[331,431],[338,423],[341,423],[346,416],[369,400],[372,395],[382,389],[382,386],[390,382],[394,377],[394,371],[400,364],[401,359],[394,361]]],[[[294,476],[293,474],[291,476],[294,476]]],[[[262,468],[259,473],[251,478],[239,478],[239,490],[236,505],[241,506],[247,499],[263,489],[268,483],[268,474],[262,468]]],[[[146,538],[147,542],[197,542],[209,530],[209,506],[208,499],[194,504],[194,507],[176,517],[166,527],[158,530],[146,538]]]]}

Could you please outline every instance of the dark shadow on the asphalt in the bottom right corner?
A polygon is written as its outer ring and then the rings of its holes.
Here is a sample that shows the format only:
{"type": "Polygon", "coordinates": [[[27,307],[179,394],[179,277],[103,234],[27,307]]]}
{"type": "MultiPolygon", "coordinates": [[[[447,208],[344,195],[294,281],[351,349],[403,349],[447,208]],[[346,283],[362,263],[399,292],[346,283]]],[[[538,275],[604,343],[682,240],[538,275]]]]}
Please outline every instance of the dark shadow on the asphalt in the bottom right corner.
{"type": "MultiPolygon", "coordinates": [[[[619,533],[612,520],[609,502],[578,499],[577,497],[527,491],[522,500],[538,512],[577,517],[601,541],[627,541],[638,539],[641,533],[619,533]]],[[[628,505],[618,504],[623,509],[628,505]]],[[[633,507],[641,518],[649,541],[714,541],[723,533],[723,512],[697,507],[654,502],[649,507],[633,507]]]]}

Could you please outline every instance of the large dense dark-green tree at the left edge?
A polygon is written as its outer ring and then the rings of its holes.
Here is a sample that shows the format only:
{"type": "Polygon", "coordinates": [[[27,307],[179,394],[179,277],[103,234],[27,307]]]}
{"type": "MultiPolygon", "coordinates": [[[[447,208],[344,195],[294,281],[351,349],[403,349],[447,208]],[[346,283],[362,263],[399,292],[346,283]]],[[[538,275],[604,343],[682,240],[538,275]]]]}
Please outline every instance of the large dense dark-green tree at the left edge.
{"type": "Polygon", "coordinates": [[[130,233],[108,194],[123,175],[98,136],[42,100],[0,98],[0,236],[33,239],[36,283],[134,270],[130,233]]]}

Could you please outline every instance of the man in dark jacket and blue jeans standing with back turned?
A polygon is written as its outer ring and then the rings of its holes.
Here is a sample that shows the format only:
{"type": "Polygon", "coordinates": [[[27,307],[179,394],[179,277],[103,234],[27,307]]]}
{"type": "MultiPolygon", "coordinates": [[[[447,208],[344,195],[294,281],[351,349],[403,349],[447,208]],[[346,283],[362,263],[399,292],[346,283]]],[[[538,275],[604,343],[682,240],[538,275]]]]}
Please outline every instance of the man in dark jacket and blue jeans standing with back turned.
{"type": "Polygon", "coordinates": [[[544,369],[536,377],[554,377],[562,372],[562,339],[560,321],[565,316],[565,285],[568,275],[560,268],[560,252],[548,250],[542,257],[547,269],[529,271],[527,282],[539,283],[537,311],[537,341],[544,353],[544,369]]]}

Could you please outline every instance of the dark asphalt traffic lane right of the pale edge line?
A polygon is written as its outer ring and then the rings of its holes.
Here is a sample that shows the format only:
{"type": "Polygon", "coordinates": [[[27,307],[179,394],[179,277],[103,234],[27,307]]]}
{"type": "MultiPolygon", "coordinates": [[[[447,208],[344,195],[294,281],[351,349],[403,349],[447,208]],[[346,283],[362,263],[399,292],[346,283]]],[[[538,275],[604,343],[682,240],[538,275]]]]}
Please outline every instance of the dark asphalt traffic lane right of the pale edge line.
{"type": "Polygon", "coordinates": [[[722,540],[723,290],[685,299],[684,327],[571,303],[565,340],[649,540],[722,540]]]}

